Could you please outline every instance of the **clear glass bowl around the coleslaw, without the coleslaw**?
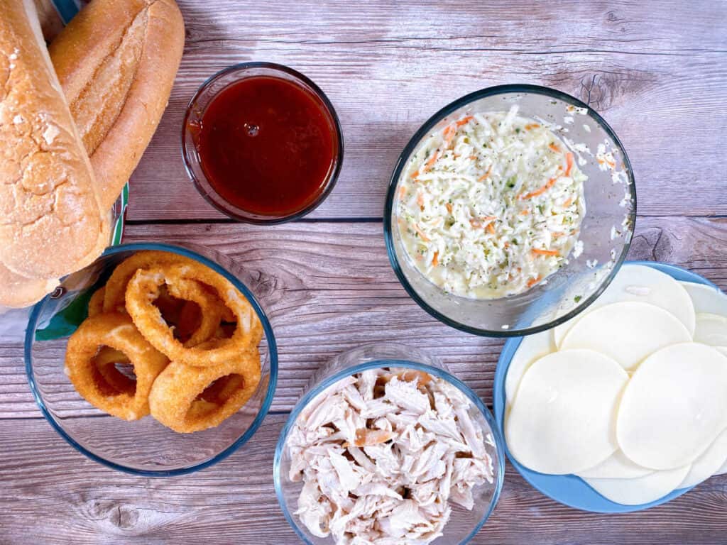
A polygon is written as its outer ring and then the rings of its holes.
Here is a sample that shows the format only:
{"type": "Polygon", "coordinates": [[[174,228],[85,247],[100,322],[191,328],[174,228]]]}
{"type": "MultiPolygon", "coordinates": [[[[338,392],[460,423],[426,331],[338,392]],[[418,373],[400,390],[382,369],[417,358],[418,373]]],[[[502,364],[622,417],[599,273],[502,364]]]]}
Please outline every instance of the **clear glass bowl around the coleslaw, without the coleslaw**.
{"type": "Polygon", "coordinates": [[[483,336],[522,336],[545,331],[570,320],[606,289],[629,250],[636,217],[633,172],[621,142],[606,121],[584,102],[568,94],[534,85],[502,85],[467,94],[434,114],[411,137],[391,176],[384,211],[384,236],[389,260],[399,281],[424,310],[449,326],[483,336]],[[502,299],[468,299],[446,294],[427,280],[403,247],[395,199],[406,164],[432,132],[473,112],[509,110],[518,115],[561,126],[561,138],[585,144],[593,153],[582,153],[587,162],[579,168],[584,183],[586,214],[580,240],[584,251],[577,259],[522,294],[502,299]],[[585,108],[579,113],[574,108],[585,108]],[[611,151],[615,172],[601,170],[595,155],[598,146],[611,151]]]}

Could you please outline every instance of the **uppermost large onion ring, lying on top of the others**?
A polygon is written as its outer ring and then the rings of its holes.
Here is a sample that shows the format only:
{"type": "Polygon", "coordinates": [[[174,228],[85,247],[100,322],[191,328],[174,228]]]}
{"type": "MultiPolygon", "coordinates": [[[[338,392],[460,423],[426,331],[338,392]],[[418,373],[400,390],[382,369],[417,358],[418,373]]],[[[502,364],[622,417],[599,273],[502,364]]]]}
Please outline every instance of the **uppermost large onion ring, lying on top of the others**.
{"type": "MultiPolygon", "coordinates": [[[[185,297],[185,299],[187,298],[185,297]]],[[[204,305],[200,306],[204,319],[206,309],[204,305]]],[[[260,318],[257,317],[249,301],[226,278],[197,262],[137,271],[126,288],[126,310],[137,328],[157,350],[166,354],[170,360],[188,366],[217,366],[234,360],[240,357],[242,352],[250,352],[257,348],[262,339],[260,318]],[[164,320],[161,320],[152,301],[158,291],[158,286],[161,286],[162,283],[166,283],[172,292],[174,286],[190,280],[214,288],[225,306],[232,310],[236,326],[230,338],[215,339],[214,343],[204,346],[191,346],[190,344],[185,346],[179,340],[174,339],[172,329],[164,323],[164,320]]]]}

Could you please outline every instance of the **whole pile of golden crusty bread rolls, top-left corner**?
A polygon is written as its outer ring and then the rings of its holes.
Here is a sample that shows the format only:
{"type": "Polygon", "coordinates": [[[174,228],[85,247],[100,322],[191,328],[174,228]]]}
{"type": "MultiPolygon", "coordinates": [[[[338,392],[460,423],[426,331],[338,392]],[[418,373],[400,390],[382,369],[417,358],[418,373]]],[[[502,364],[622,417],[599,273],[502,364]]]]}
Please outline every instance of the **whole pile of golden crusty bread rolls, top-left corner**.
{"type": "Polygon", "coordinates": [[[108,245],[184,47],[174,0],[94,0],[49,49],[33,0],[1,5],[0,310],[41,299],[108,245]]]}

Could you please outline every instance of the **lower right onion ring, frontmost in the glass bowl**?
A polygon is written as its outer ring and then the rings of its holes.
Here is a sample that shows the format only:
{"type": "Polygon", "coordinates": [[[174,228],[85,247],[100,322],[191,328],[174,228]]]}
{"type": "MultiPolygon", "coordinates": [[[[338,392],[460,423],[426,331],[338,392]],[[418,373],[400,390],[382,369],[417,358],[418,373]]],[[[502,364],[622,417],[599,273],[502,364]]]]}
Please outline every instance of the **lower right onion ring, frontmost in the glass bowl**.
{"type": "Polygon", "coordinates": [[[219,426],[247,403],[258,384],[257,350],[214,367],[191,367],[174,361],[151,389],[151,416],[180,433],[219,426]]]}

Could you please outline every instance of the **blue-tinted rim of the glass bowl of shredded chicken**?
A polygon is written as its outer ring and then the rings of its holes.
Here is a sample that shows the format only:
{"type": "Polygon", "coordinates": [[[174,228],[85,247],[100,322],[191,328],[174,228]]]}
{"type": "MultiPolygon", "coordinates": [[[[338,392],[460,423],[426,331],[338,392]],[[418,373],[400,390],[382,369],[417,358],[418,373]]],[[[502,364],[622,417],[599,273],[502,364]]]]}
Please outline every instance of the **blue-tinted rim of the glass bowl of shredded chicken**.
{"type": "Polygon", "coordinates": [[[505,441],[502,438],[502,434],[500,434],[499,432],[499,427],[497,427],[497,421],[494,419],[491,411],[489,410],[489,408],[487,408],[487,405],[483,403],[480,397],[475,394],[472,388],[467,386],[467,384],[462,382],[462,380],[458,379],[457,376],[454,376],[454,374],[446,371],[446,369],[431,366],[427,363],[420,363],[411,360],[401,360],[398,358],[380,358],[376,360],[366,361],[364,363],[358,363],[355,366],[341,369],[337,373],[327,376],[324,380],[316,384],[315,387],[311,388],[305,395],[303,395],[300,400],[298,400],[298,402],[292,408],[292,411],[290,411],[288,419],[286,420],[285,425],[281,430],[280,435],[278,436],[278,443],[276,443],[275,456],[273,458],[273,485],[275,486],[275,493],[276,497],[278,498],[278,504],[280,505],[281,511],[283,512],[285,519],[288,521],[288,524],[291,526],[291,528],[293,528],[293,530],[295,530],[295,533],[297,533],[298,537],[300,537],[302,541],[304,541],[306,544],[313,545],[308,537],[305,536],[305,533],[303,533],[300,529],[300,525],[294,520],[294,517],[286,507],[286,503],[284,500],[281,482],[281,459],[285,448],[286,438],[288,437],[290,430],[294,426],[295,421],[297,421],[298,416],[300,416],[300,412],[308,406],[310,401],[312,401],[326,388],[332,386],[332,384],[335,384],[341,379],[344,379],[346,376],[360,373],[361,371],[366,371],[367,369],[381,367],[404,367],[416,369],[417,371],[425,371],[429,374],[432,374],[433,376],[438,377],[439,379],[443,379],[446,382],[449,382],[460,392],[462,392],[467,397],[467,399],[469,399],[470,402],[473,403],[473,405],[475,405],[475,407],[484,417],[487,425],[490,427],[492,438],[495,443],[494,448],[497,452],[497,475],[494,476],[494,492],[492,494],[489,507],[484,513],[482,520],[480,520],[475,525],[473,530],[467,535],[467,537],[460,542],[460,545],[466,544],[475,536],[476,533],[478,533],[482,529],[485,523],[489,520],[490,515],[494,511],[494,508],[495,506],[497,506],[497,502],[499,501],[499,496],[502,492],[502,485],[505,481],[505,441]]]}

